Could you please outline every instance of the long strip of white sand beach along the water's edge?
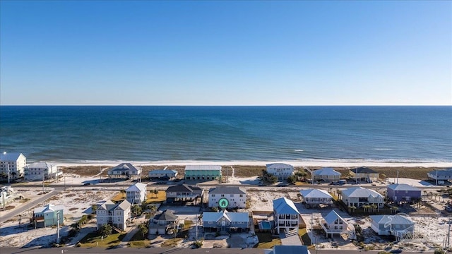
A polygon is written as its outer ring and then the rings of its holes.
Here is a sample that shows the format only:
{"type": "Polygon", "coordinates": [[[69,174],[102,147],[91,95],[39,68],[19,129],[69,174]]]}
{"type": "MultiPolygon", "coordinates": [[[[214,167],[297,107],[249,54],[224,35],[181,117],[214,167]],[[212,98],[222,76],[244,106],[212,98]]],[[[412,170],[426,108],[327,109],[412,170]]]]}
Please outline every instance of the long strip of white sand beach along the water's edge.
{"type": "Polygon", "coordinates": [[[291,164],[294,167],[424,167],[424,168],[449,168],[452,162],[417,162],[417,161],[388,161],[367,159],[319,159],[319,160],[279,160],[279,161],[208,161],[208,160],[168,160],[168,161],[74,161],[61,162],[49,161],[58,167],[84,167],[84,166],[116,166],[121,163],[131,163],[140,166],[185,166],[185,165],[221,165],[221,166],[266,166],[271,163],[291,164]]]}

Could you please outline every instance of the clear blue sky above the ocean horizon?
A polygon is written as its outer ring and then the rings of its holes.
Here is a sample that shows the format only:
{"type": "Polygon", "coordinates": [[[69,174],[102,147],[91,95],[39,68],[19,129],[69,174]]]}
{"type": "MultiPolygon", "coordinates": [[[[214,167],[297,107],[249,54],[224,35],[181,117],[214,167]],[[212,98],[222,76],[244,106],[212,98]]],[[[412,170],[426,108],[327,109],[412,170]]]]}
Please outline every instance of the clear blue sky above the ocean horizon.
{"type": "Polygon", "coordinates": [[[0,1],[0,104],[451,105],[451,1],[0,1]]]}

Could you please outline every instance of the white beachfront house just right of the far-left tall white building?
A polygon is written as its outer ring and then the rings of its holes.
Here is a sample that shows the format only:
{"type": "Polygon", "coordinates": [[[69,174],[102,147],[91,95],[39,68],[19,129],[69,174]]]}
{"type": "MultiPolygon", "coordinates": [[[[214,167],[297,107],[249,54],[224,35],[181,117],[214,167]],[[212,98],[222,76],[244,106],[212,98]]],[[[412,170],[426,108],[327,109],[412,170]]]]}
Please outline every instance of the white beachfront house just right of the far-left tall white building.
{"type": "Polygon", "coordinates": [[[59,171],[57,164],[49,162],[34,162],[25,166],[24,169],[24,179],[26,181],[57,179],[62,175],[63,172],[59,171]]]}

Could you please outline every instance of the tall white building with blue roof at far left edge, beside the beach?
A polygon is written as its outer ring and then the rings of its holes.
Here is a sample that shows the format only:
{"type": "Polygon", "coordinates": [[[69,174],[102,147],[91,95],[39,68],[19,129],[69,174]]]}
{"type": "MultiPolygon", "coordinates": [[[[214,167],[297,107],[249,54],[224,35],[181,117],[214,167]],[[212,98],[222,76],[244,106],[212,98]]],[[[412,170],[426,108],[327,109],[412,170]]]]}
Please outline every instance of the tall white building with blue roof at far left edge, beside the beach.
{"type": "Polygon", "coordinates": [[[0,174],[4,178],[18,179],[23,176],[27,158],[20,152],[2,152],[0,154],[0,174]]]}

